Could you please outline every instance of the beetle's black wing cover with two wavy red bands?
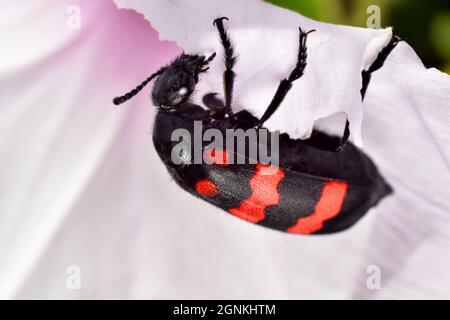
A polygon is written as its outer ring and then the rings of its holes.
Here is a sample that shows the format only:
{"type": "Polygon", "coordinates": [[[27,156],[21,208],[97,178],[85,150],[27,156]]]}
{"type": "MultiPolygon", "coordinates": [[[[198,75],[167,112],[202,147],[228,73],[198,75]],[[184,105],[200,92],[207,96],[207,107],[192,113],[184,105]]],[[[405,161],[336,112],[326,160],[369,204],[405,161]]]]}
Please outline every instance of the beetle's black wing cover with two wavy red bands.
{"type": "Polygon", "coordinates": [[[251,164],[192,165],[177,182],[190,193],[247,222],[297,234],[349,228],[390,193],[377,173],[347,182],[251,164]],[[270,174],[264,169],[272,169],[270,174]]]}

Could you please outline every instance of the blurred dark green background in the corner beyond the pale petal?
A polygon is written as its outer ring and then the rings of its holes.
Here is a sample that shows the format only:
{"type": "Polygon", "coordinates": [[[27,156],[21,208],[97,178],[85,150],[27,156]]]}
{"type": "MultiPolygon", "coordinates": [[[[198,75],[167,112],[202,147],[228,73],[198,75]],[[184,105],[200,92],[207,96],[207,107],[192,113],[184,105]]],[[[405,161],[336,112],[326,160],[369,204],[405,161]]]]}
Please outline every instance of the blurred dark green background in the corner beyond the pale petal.
{"type": "Polygon", "coordinates": [[[366,27],[368,6],[381,9],[381,26],[393,26],[428,68],[450,73],[450,1],[448,0],[267,0],[312,19],[366,27]]]}

